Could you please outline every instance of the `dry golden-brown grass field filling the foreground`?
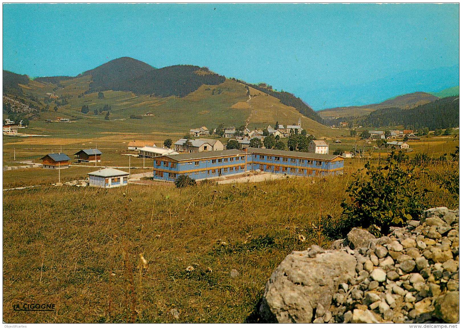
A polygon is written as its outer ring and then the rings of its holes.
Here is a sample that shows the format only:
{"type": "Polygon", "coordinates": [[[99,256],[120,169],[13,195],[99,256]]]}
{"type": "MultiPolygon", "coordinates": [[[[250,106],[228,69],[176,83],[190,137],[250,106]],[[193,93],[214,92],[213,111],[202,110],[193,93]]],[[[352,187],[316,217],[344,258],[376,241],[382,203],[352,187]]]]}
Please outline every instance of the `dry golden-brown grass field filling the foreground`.
{"type": "MultiPolygon", "coordinates": [[[[328,246],[320,218],[340,217],[351,179],[4,192],[3,320],[253,321],[284,257],[311,244],[328,246]],[[141,275],[140,253],[149,262],[141,275]],[[238,276],[231,277],[233,269],[238,276]],[[12,311],[21,302],[54,303],[57,311],[12,311]]],[[[458,205],[431,184],[422,179],[421,188],[435,191],[427,206],[458,205]]]]}

